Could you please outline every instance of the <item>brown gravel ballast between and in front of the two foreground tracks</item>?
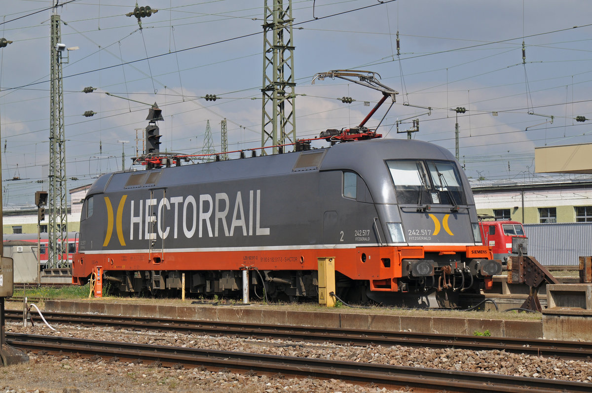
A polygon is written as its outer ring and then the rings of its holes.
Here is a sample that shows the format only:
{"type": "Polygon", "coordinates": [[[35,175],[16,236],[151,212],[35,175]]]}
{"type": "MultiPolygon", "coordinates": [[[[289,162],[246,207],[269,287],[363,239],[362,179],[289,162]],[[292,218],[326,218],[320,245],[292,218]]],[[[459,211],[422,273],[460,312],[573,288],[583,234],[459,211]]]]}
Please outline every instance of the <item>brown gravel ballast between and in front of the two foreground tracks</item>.
{"type": "MultiPolygon", "coordinates": [[[[592,381],[592,362],[554,359],[506,353],[500,350],[473,352],[460,349],[426,349],[404,346],[356,347],[333,343],[289,342],[276,339],[192,336],[179,333],[120,330],[110,327],[56,325],[23,327],[7,323],[14,333],[91,338],[167,346],[233,350],[281,356],[348,360],[458,371],[529,376],[564,381],[592,381]]],[[[30,362],[0,369],[1,392],[63,392],[67,386],[80,392],[101,391],[198,391],[198,392],[378,392],[379,386],[358,386],[331,379],[284,379],[281,376],[253,376],[210,372],[205,369],[170,369],[134,363],[110,363],[109,359],[70,359],[67,356],[29,354],[30,362]],[[222,390],[221,390],[222,389],[222,390]]],[[[591,385],[592,386],[592,385],[591,385]]]]}

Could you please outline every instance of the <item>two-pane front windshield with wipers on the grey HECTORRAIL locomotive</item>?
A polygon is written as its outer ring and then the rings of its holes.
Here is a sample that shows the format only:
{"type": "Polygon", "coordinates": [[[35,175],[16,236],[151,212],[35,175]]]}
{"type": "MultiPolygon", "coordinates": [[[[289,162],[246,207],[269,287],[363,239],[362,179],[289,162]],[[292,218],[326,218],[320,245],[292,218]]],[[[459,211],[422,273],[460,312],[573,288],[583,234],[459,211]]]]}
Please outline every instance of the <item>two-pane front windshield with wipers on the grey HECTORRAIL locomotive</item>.
{"type": "Polygon", "coordinates": [[[399,204],[466,205],[456,164],[436,160],[388,160],[399,204]]]}

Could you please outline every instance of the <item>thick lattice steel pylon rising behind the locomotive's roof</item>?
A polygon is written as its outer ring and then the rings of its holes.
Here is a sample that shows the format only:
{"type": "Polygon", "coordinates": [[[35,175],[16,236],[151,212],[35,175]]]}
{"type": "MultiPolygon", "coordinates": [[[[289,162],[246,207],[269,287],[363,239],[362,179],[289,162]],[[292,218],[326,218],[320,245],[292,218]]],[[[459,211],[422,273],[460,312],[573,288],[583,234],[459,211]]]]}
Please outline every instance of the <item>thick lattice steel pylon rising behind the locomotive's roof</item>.
{"type": "MultiPolygon", "coordinates": [[[[261,147],[296,141],[292,0],[284,5],[284,0],[265,0],[261,147]]],[[[277,150],[274,147],[273,153],[277,150]]],[[[261,154],[267,154],[265,149],[261,154]]]]}

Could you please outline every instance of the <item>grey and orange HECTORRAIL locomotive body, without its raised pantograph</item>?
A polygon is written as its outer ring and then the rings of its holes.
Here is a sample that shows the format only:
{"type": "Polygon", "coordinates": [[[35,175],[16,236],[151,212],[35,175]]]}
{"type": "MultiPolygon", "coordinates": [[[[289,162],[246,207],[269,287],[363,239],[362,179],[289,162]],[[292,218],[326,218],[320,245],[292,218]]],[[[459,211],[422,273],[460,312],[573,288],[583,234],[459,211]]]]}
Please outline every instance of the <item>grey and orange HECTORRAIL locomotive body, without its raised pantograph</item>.
{"type": "MultiPolygon", "coordinates": [[[[73,280],[96,266],[121,292],[314,297],[335,257],[349,299],[478,293],[499,264],[482,246],[471,189],[434,144],[375,139],[326,149],[116,172],[83,205],[73,280]],[[260,291],[260,289],[258,289],[260,291]]],[[[447,296],[448,297],[448,296],[447,296]]]]}

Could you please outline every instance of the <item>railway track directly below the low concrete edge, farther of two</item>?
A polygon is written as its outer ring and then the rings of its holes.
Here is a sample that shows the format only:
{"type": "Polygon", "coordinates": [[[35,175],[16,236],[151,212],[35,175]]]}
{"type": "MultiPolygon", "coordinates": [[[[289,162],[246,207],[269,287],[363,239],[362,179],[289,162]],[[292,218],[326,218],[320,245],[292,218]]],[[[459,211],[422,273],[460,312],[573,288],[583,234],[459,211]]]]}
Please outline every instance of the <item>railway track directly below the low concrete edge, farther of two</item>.
{"type": "MultiPolygon", "coordinates": [[[[406,331],[353,330],[346,328],[279,326],[218,321],[180,320],[174,318],[143,318],[120,315],[44,313],[47,321],[83,326],[111,326],[130,330],[175,331],[211,336],[237,336],[284,339],[305,342],[332,342],[355,346],[416,346],[466,350],[505,350],[526,355],[544,355],[564,359],[592,360],[592,343],[526,340],[501,337],[475,337],[450,334],[411,333],[406,331]]],[[[22,311],[5,310],[7,320],[22,321],[22,311]]],[[[33,314],[35,323],[42,323],[33,314]]]]}

